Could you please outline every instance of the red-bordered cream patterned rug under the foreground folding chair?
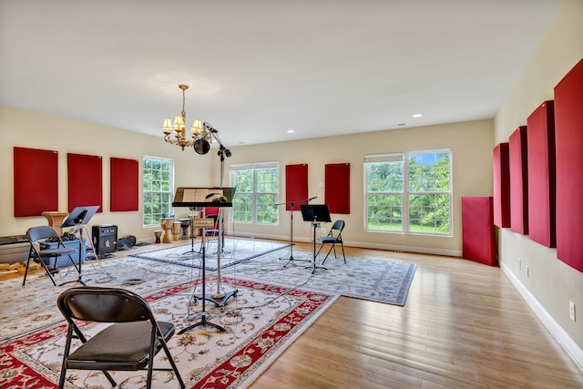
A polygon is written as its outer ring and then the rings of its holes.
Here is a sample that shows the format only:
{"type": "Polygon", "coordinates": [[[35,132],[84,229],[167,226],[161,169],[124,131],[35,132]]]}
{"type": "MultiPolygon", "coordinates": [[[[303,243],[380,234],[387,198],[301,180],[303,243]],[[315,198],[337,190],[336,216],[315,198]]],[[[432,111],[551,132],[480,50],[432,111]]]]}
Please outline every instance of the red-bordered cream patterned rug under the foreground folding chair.
{"type": "MultiPolygon", "coordinates": [[[[209,279],[210,290],[213,282],[209,279]]],[[[185,282],[148,294],[147,301],[159,320],[174,322],[177,334],[169,342],[187,388],[246,388],[334,301],[331,294],[287,289],[265,282],[224,278],[237,288],[236,299],[224,307],[207,304],[207,319],[227,329],[197,326],[178,331],[199,321],[200,282],[185,282]]],[[[62,291],[62,289],[61,289],[62,291]]],[[[84,325],[91,335],[103,324],[84,325]]],[[[66,325],[22,335],[0,346],[0,387],[53,388],[58,383],[66,325]]],[[[77,341],[78,342],[78,341],[77,341]]],[[[159,353],[155,366],[169,365],[159,353]]],[[[146,372],[112,372],[118,387],[143,387],[146,372]]],[[[66,387],[109,388],[100,372],[69,371],[66,387]]],[[[155,372],[153,387],[179,387],[169,372],[155,372]]]]}

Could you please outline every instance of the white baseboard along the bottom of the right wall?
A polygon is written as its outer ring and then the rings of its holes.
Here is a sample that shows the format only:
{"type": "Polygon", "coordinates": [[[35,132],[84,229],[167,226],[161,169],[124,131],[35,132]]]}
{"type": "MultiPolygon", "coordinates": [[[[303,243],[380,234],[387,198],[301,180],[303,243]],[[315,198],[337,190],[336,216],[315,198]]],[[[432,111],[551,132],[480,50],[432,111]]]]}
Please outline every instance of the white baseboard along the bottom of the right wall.
{"type": "Polygon", "coordinates": [[[504,271],[510,282],[517,288],[517,291],[522,295],[530,308],[537,314],[543,324],[547,327],[548,331],[557,339],[567,353],[573,358],[575,363],[579,365],[581,370],[583,370],[583,350],[578,346],[573,339],[568,335],[568,333],[563,330],[563,328],[553,319],[553,317],[547,312],[547,310],[537,301],[532,293],[528,292],[527,288],[520,282],[517,277],[510,271],[504,262],[500,262],[500,269],[504,271]]]}

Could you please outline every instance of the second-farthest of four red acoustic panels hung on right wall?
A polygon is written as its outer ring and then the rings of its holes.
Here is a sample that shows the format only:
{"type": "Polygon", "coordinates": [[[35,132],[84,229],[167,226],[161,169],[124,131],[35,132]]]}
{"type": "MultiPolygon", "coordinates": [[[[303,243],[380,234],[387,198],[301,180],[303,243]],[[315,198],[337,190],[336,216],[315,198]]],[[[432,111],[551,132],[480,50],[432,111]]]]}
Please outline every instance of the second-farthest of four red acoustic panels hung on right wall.
{"type": "Polygon", "coordinates": [[[528,235],[527,126],[508,138],[510,160],[510,230],[528,235]]]}

